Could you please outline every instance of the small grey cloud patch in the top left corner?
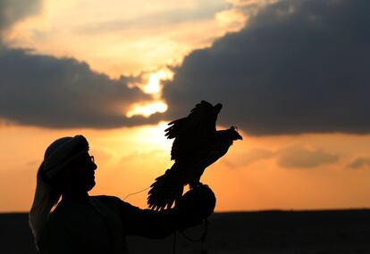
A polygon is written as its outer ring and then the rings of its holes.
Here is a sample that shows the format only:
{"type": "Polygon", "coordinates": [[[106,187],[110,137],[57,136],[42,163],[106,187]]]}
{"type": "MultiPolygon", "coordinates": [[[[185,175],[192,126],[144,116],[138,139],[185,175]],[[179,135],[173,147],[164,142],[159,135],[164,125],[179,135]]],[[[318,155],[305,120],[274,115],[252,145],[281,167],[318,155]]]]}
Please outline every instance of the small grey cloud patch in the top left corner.
{"type": "Polygon", "coordinates": [[[41,12],[42,4],[42,0],[0,0],[0,33],[17,21],[41,12]]]}

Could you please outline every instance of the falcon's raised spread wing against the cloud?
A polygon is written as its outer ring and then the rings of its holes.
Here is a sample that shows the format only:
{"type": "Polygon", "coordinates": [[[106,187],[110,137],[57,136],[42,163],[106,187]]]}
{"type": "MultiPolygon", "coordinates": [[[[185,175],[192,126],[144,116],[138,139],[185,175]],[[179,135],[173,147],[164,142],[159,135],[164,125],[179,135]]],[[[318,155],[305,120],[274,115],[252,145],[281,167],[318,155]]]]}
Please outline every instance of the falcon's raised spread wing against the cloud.
{"type": "Polygon", "coordinates": [[[169,139],[174,138],[171,150],[172,160],[189,160],[191,154],[197,152],[216,134],[215,122],[223,105],[202,101],[190,111],[188,117],[169,123],[165,132],[169,139]]]}

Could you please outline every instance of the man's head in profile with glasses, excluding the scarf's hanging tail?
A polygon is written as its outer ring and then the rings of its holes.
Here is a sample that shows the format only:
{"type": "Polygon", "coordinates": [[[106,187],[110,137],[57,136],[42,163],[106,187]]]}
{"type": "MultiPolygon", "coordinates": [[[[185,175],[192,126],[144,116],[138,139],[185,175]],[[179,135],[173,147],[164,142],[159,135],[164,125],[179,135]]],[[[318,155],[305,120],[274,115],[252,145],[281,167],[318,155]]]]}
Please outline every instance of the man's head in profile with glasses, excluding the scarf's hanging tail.
{"type": "Polygon", "coordinates": [[[91,190],[95,185],[97,165],[88,154],[88,141],[83,135],[67,136],[55,140],[45,152],[44,176],[46,182],[64,192],[91,190]]]}

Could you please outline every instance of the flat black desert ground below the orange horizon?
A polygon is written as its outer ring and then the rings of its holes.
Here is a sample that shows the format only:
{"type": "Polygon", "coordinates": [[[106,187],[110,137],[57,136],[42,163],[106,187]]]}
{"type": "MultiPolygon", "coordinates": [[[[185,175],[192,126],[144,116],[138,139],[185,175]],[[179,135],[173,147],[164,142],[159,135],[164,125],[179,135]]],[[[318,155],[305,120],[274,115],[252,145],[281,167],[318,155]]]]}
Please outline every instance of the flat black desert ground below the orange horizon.
{"type": "MultiPolygon", "coordinates": [[[[26,213],[0,215],[0,253],[37,253],[27,220],[26,213]]],[[[203,248],[177,233],[176,253],[370,253],[370,209],[215,213],[209,222],[203,248]]],[[[195,239],[203,231],[197,226],[185,234],[195,239]]],[[[128,244],[131,254],[173,253],[173,235],[129,236],[128,244]]]]}

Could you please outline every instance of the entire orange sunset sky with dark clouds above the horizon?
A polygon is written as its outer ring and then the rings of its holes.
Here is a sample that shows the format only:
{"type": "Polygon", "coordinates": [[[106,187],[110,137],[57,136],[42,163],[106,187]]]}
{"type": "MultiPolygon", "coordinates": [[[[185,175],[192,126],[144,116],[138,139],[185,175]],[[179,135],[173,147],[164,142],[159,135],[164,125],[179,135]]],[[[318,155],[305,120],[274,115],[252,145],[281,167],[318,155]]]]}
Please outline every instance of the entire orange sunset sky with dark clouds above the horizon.
{"type": "Polygon", "coordinates": [[[85,135],[91,195],[146,208],[167,123],[201,100],[243,141],[206,169],[216,211],[370,208],[370,2],[0,0],[0,212],[46,147],[85,135]]]}

